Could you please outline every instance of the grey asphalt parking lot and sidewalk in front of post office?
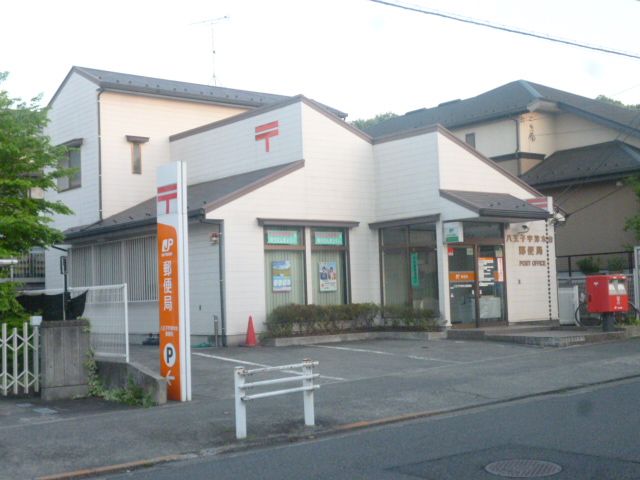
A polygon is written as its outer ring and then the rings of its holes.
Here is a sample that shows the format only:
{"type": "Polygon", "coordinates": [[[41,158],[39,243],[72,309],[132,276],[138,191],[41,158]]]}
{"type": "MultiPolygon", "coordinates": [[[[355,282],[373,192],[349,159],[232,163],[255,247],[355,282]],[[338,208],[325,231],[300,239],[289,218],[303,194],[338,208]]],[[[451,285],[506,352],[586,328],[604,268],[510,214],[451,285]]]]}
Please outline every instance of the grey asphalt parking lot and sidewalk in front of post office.
{"type": "MultiPolygon", "coordinates": [[[[133,361],[158,369],[157,347],[135,346],[131,354],[133,361]]],[[[639,374],[639,340],[549,349],[453,340],[193,349],[192,402],[141,409],[93,399],[75,404],[0,400],[0,478],[33,478],[167,455],[210,453],[362,422],[558,394],[639,374]],[[234,366],[259,368],[299,363],[304,358],[319,362],[317,426],[304,427],[301,394],[266,398],[249,402],[249,438],[237,442],[234,366]],[[46,413],[36,411],[41,408],[46,413]]]]}

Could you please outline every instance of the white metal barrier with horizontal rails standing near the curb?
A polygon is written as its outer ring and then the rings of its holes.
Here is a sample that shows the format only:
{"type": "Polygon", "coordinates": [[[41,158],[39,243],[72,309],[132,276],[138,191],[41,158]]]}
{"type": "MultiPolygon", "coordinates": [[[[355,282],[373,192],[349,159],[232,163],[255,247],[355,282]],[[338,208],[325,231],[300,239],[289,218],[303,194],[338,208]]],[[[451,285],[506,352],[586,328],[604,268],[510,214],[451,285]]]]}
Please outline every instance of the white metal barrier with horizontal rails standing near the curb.
{"type": "Polygon", "coordinates": [[[293,365],[281,365],[278,367],[256,368],[247,370],[244,367],[236,367],[234,370],[234,385],[236,398],[236,438],[238,440],[247,438],[247,406],[246,402],[250,400],[258,400],[260,398],[274,397],[276,395],[286,395],[287,393],[302,392],[304,398],[304,424],[312,427],[315,425],[315,411],[313,404],[313,391],[320,388],[320,385],[314,385],[313,379],[320,376],[319,373],[313,373],[313,367],[318,362],[314,362],[305,358],[302,363],[293,365]],[[245,383],[245,377],[256,375],[259,373],[286,371],[294,368],[301,368],[302,372],[295,373],[294,377],[274,378],[271,380],[260,380],[252,383],[245,383]],[[288,388],[285,390],[275,390],[271,392],[256,393],[247,395],[245,390],[277,385],[280,383],[302,382],[301,387],[288,388]]]}

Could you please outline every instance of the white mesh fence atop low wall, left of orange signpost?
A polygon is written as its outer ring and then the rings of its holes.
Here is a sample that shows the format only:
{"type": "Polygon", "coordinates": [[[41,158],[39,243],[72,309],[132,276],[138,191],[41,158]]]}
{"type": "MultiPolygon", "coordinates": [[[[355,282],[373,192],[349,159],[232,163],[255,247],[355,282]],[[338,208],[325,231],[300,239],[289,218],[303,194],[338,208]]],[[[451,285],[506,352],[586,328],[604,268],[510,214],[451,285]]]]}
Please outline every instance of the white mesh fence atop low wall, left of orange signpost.
{"type": "MultiPolygon", "coordinates": [[[[91,325],[91,348],[96,357],[129,362],[129,308],[127,284],[71,287],[71,298],[87,292],[83,317],[91,325]]],[[[60,294],[62,289],[28,290],[25,295],[60,294]]]]}

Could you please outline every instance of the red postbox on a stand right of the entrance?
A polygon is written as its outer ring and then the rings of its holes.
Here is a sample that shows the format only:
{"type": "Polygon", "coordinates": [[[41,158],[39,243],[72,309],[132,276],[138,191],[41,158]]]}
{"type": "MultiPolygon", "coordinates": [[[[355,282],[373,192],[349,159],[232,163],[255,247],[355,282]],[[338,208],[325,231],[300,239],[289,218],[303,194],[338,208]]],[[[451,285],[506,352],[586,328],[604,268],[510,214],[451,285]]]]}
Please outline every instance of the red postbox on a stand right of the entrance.
{"type": "Polygon", "coordinates": [[[624,275],[587,277],[587,310],[602,315],[602,329],[613,330],[614,314],[629,311],[627,279],[624,275]]]}

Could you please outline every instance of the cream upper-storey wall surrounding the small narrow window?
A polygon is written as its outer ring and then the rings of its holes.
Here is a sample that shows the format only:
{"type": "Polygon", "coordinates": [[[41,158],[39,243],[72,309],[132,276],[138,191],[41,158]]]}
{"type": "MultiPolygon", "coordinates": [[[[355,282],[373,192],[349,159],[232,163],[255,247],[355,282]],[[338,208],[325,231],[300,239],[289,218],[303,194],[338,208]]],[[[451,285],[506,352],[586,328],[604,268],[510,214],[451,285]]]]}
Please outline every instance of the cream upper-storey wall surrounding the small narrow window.
{"type": "MultiPolygon", "coordinates": [[[[245,109],[103,92],[100,96],[103,218],[155,195],[156,168],[169,162],[169,136],[242,113],[245,109]],[[126,135],[142,144],[142,174],[131,173],[126,135]]],[[[181,159],[174,156],[175,160],[181,159]]],[[[87,222],[86,222],[87,223],[87,222]]]]}

